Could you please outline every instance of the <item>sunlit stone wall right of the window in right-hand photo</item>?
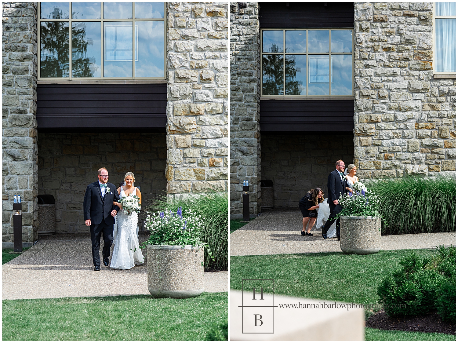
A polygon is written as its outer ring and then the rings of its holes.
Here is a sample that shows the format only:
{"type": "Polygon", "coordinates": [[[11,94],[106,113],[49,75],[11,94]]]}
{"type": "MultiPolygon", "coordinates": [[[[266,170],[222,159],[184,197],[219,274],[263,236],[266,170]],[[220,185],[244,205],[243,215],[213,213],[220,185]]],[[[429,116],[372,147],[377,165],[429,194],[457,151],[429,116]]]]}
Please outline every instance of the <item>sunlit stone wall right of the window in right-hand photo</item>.
{"type": "Polygon", "coordinates": [[[433,3],[355,3],[354,161],[361,179],[455,170],[455,79],[433,73],[433,3]]]}

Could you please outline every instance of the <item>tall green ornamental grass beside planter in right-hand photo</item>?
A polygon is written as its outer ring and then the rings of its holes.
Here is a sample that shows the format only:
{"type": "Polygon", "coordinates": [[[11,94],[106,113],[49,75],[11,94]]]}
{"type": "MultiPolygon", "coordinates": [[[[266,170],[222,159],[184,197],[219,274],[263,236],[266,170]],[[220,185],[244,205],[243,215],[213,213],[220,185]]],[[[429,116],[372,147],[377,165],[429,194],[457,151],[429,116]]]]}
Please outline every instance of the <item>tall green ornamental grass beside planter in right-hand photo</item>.
{"type": "Polygon", "coordinates": [[[382,198],[379,212],[387,221],[382,234],[455,231],[453,177],[376,180],[367,188],[382,198]]]}

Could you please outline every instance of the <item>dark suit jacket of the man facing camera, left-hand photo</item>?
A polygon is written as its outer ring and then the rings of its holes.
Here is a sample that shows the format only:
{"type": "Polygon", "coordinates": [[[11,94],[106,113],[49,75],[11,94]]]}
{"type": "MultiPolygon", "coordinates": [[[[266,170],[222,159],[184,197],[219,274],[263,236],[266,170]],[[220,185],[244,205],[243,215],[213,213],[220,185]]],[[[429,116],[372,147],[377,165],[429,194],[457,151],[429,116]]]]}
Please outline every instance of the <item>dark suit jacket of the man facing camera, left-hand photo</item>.
{"type": "Polygon", "coordinates": [[[87,185],[86,193],[84,194],[83,212],[84,220],[91,219],[91,225],[102,223],[102,218],[105,219],[105,223],[114,224],[114,217],[110,213],[113,210],[120,210],[119,207],[113,205],[113,201],[119,200],[116,186],[107,182],[107,187],[110,191],[105,191],[105,196],[102,198],[102,191],[98,181],[87,185]]]}

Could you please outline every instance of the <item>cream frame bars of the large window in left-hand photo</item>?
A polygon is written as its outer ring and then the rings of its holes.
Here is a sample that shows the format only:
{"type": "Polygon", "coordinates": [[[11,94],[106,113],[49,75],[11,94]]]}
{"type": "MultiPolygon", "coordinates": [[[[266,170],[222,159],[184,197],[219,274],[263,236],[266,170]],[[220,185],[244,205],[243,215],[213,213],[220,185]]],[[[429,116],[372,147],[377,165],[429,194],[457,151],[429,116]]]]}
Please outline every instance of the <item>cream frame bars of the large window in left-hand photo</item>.
{"type": "Polygon", "coordinates": [[[104,19],[104,3],[100,2],[100,19],[72,19],[71,1],[69,1],[69,19],[41,19],[40,2],[37,8],[37,51],[38,51],[38,77],[37,81],[97,81],[97,80],[165,80],[167,65],[167,3],[164,2],[164,18],[135,18],[135,2],[132,2],[132,19],[104,19]],[[41,22],[68,22],[69,23],[69,75],[70,77],[41,77],[41,22]],[[72,50],[71,50],[71,27],[72,22],[100,22],[100,75],[101,77],[72,77],[72,50]],[[104,77],[104,22],[132,22],[132,77],[104,77]],[[164,76],[156,77],[135,77],[135,22],[164,22],[164,76]]]}

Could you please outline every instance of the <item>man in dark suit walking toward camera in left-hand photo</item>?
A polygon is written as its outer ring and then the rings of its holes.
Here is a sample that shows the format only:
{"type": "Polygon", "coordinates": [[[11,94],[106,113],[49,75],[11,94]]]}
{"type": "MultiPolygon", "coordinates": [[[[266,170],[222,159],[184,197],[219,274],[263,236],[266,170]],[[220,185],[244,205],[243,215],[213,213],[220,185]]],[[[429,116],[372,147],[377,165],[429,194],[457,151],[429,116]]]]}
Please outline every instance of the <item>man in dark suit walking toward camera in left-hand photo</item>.
{"type": "Polygon", "coordinates": [[[110,248],[113,244],[114,216],[119,207],[113,205],[113,201],[119,200],[116,186],[108,182],[108,170],[98,169],[98,181],[93,182],[86,188],[84,194],[83,211],[86,225],[91,230],[92,259],[94,261],[94,272],[100,270],[100,236],[104,238],[104,265],[108,266],[110,248]]]}

